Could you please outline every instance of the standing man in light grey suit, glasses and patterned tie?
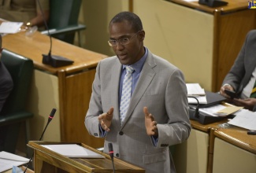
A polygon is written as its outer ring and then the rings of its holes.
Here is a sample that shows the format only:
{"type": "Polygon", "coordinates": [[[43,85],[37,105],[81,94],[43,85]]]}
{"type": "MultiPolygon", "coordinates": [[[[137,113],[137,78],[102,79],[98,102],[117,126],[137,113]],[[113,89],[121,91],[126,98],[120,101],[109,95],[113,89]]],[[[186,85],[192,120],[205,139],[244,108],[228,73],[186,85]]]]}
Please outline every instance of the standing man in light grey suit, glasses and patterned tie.
{"type": "Polygon", "coordinates": [[[143,46],[145,31],[134,13],[113,17],[109,35],[117,56],[98,63],[85,117],[87,131],[105,138],[105,153],[112,143],[114,156],[147,173],[176,172],[169,146],[187,140],[191,131],[184,75],[143,46]],[[121,116],[129,68],[134,69],[132,96],[121,116]]]}

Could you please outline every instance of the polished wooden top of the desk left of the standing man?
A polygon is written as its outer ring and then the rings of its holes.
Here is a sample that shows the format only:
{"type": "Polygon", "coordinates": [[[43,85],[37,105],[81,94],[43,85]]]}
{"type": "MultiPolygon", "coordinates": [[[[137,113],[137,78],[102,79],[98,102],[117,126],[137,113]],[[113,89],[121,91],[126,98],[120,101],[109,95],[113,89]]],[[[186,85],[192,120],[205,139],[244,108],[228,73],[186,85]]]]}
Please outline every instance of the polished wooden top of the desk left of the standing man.
{"type": "Polygon", "coordinates": [[[98,61],[106,57],[106,55],[101,53],[85,50],[78,46],[73,46],[69,43],[52,38],[51,54],[66,57],[74,61],[74,63],[60,68],[54,68],[48,64],[43,64],[42,54],[49,53],[50,37],[42,35],[40,32],[35,32],[32,36],[26,36],[24,31],[13,35],[5,35],[2,38],[2,46],[14,53],[31,58],[34,61],[36,68],[51,72],[52,74],[57,74],[59,71],[65,71],[65,74],[69,75],[72,72],[77,72],[86,68],[94,68],[98,64],[98,61]]]}

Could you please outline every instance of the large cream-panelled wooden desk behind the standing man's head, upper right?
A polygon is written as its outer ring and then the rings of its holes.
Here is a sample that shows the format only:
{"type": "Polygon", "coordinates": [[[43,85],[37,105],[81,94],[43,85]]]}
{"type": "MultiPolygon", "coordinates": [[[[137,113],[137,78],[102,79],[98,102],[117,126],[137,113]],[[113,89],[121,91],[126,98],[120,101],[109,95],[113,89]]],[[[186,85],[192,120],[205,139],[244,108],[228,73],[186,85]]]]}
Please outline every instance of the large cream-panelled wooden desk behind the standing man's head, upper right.
{"type": "Polygon", "coordinates": [[[225,1],[228,6],[210,8],[196,1],[140,0],[133,9],[143,20],[150,51],[180,68],[187,83],[215,92],[247,32],[256,29],[256,10],[247,9],[246,0],[225,1]]]}

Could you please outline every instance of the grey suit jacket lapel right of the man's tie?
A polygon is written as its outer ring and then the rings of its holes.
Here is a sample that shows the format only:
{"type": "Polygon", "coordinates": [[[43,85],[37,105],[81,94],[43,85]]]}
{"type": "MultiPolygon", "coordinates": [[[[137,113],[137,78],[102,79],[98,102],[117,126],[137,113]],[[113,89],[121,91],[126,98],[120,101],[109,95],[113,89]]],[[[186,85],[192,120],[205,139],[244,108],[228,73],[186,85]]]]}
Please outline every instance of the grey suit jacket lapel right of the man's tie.
{"type": "Polygon", "coordinates": [[[135,86],[135,90],[132,94],[130,105],[121,128],[125,126],[125,123],[127,122],[127,120],[130,118],[130,116],[132,116],[132,112],[134,111],[140,98],[142,98],[143,94],[147,90],[147,87],[150,85],[150,82],[152,81],[152,79],[154,79],[154,75],[156,74],[156,72],[153,70],[153,68],[155,66],[156,66],[156,63],[154,61],[154,57],[152,53],[150,53],[149,51],[147,60],[145,61],[141,74],[139,75],[139,81],[135,86]]]}

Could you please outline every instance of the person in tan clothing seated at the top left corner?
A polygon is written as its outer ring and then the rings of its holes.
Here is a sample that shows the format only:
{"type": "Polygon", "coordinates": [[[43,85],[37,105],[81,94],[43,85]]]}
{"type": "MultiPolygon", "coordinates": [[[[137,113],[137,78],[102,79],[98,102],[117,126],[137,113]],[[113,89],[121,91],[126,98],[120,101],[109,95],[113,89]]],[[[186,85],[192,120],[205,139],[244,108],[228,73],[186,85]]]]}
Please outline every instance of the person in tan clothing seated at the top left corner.
{"type": "MultiPolygon", "coordinates": [[[[49,0],[39,0],[46,21],[49,19],[49,0]]],[[[42,13],[37,0],[0,0],[0,18],[23,22],[29,27],[44,26],[42,13]]]]}

